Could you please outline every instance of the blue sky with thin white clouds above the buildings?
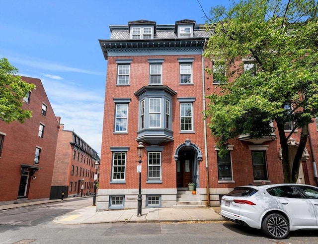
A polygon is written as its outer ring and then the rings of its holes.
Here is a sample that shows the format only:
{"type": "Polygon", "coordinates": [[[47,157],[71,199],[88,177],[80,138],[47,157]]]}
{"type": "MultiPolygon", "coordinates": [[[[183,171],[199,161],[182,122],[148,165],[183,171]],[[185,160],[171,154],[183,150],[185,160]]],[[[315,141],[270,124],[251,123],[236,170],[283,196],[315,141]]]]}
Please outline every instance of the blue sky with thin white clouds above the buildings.
{"type": "MultiPolygon", "coordinates": [[[[206,14],[228,0],[199,0],[206,14]]],[[[56,116],[100,156],[111,24],[146,19],[205,23],[197,0],[0,0],[0,58],[40,78],[56,116]]],[[[111,128],[113,125],[109,125],[111,128]]]]}

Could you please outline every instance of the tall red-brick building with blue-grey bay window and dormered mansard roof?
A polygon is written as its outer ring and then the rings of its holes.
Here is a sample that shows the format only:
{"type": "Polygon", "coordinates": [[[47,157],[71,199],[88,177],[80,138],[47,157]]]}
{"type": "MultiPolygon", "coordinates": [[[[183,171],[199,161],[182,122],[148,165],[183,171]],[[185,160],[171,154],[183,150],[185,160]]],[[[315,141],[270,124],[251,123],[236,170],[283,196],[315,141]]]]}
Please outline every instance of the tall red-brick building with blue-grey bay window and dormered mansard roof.
{"type": "MultiPolygon", "coordinates": [[[[142,207],[218,206],[220,197],[235,186],[283,182],[274,132],[257,141],[241,135],[230,142],[226,157],[218,157],[202,114],[209,102],[205,96],[218,90],[218,81],[204,70],[213,62],[202,56],[211,34],[203,24],[139,20],[111,25],[110,32],[110,39],[99,40],[107,60],[107,84],[98,211],[137,208],[140,142],[145,146],[142,207]],[[192,197],[188,183],[196,186],[192,197]]],[[[316,123],[310,124],[302,183],[316,184],[312,150],[318,151],[317,130],[316,123]]],[[[296,133],[289,141],[291,155],[298,141],[296,133]]]]}

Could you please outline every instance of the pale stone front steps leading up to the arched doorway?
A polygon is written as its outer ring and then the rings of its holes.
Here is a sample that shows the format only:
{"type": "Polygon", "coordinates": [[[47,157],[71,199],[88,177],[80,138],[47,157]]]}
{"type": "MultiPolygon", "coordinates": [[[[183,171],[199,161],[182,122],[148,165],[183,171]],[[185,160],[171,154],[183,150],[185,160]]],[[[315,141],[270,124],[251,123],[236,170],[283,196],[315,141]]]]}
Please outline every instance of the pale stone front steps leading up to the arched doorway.
{"type": "Polygon", "coordinates": [[[177,191],[177,205],[173,208],[206,208],[200,201],[197,194],[192,194],[191,190],[178,190],[177,191]]]}

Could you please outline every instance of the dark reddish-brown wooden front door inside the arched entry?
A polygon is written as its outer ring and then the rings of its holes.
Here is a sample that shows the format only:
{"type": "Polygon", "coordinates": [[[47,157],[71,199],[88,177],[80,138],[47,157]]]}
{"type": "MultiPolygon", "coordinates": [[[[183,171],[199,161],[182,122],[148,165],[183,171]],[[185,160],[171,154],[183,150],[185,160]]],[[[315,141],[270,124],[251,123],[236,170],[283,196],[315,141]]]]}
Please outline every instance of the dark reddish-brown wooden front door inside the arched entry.
{"type": "Polygon", "coordinates": [[[177,160],[177,187],[188,187],[188,183],[193,182],[192,164],[193,151],[180,151],[177,160]]]}

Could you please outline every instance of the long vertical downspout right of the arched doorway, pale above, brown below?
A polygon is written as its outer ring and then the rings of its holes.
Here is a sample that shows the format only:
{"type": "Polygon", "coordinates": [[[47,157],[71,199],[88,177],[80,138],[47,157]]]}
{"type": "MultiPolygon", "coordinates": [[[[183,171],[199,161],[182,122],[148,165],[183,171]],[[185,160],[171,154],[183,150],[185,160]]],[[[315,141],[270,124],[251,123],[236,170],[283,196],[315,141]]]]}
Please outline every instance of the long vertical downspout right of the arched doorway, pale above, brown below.
{"type": "MultiPolygon", "coordinates": [[[[207,44],[207,39],[204,40],[203,49],[202,49],[202,96],[203,96],[203,111],[205,111],[205,72],[204,72],[204,56],[203,52],[205,46],[207,44]]],[[[208,207],[211,206],[210,204],[210,183],[209,183],[209,165],[208,165],[208,142],[207,142],[207,122],[203,120],[203,128],[204,128],[204,151],[205,151],[205,170],[206,170],[206,177],[207,177],[207,201],[208,207]]]]}

